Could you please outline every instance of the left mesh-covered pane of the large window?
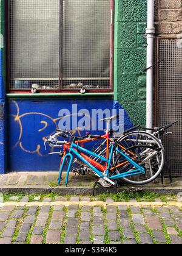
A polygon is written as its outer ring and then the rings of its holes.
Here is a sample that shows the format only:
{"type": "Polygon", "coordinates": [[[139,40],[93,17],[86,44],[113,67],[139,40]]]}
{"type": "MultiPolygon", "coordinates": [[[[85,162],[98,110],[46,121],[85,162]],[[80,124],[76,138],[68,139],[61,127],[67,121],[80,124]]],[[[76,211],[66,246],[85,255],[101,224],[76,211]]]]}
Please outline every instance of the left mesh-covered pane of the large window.
{"type": "Polygon", "coordinates": [[[58,85],[59,0],[10,0],[10,88],[58,85]]]}

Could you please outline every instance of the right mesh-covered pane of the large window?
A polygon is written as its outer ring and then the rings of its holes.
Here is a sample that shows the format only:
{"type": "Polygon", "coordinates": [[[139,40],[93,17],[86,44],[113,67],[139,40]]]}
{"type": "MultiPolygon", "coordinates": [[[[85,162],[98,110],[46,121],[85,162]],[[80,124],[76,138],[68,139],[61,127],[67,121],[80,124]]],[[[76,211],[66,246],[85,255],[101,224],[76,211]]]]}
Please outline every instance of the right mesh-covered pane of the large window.
{"type": "Polygon", "coordinates": [[[64,87],[108,88],[110,0],[65,0],[63,12],[64,87]]]}

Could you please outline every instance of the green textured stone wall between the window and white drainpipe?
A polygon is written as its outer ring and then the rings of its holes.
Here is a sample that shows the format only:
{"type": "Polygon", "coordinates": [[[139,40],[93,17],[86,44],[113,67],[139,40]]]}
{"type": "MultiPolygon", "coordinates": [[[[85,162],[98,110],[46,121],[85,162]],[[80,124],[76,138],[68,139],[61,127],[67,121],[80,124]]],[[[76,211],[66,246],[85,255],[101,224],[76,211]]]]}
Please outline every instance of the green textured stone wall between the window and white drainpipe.
{"type": "Polygon", "coordinates": [[[134,124],[146,123],[147,0],[115,0],[115,101],[134,124]]]}

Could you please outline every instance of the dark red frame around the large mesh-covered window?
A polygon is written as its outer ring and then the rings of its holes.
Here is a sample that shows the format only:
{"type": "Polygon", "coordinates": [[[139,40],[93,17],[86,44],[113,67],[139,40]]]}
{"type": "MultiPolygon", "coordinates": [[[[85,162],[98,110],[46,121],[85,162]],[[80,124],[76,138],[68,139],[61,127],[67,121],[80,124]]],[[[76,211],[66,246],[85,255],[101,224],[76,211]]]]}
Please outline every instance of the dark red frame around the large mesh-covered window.
{"type": "MultiPolygon", "coordinates": [[[[60,0],[60,2],[62,2],[60,0]]],[[[61,12],[61,10],[60,10],[61,12]]],[[[111,23],[110,23],[110,88],[107,89],[90,89],[87,90],[88,93],[113,93],[113,65],[114,65],[114,20],[115,20],[115,0],[110,0],[110,13],[111,13],[111,23]]],[[[61,16],[60,16],[60,26],[61,26],[61,16]]],[[[11,89],[10,88],[10,8],[9,1],[5,2],[5,38],[6,38],[6,84],[7,84],[7,93],[10,94],[30,94],[31,89],[11,89]]],[[[62,40],[62,39],[61,39],[62,40]]],[[[60,55],[60,54],[59,54],[60,55]]],[[[61,56],[59,56],[59,65],[62,65],[61,56]]],[[[59,77],[59,81],[62,80],[59,77]]],[[[64,88],[59,89],[47,89],[47,90],[38,90],[38,93],[41,94],[71,94],[71,93],[80,93],[80,89],[68,90],[64,88]]]]}

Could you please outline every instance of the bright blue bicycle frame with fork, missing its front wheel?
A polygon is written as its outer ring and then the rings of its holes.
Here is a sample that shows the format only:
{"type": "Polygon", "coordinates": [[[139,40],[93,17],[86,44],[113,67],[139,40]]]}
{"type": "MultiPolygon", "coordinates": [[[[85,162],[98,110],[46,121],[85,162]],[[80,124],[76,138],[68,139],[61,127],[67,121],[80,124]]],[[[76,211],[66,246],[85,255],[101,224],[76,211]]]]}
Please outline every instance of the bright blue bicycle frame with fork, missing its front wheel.
{"type": "Polygon", "coordinates": [[[75,144],[74,141],[72,142],[71,146],[70,146],[70,150],[69,153],[65,155],[65,157],[62,160],[62,164],[61,167],[59,169],[59,178],[58,178],[58,183],[60,184],[61,182],[61,176],[62,176],[62,171],[64,168],[64,164],[66,162],[66,159],[70,157],[70,162],[69,162],[69,166],[67,168],[67,174],[66,174],[66,186],[68,184],[69,181],[69,173],[70,173],[70,169],[72,167],[72,162],[73,162],[73,154],[76,155],[76,157],[78,157],[83,163],[85,163],[87,166],[89,166],[90,169],[92,169],[93,172],[95,172],[95,174],[104,179],[107,178],[107,180],[110,180],[110,183],[112,183],[112,180],[116,180],[116,179],[122,179],[124,177],[127,176],[133,176],[136,174],[145,174],[144,168],[141,167],[140,165],[138,165],[137,163],[135,163],[133,160],[131,160],[129,157],[127,157],[127,155],[125,155],[123,152],[121,152],[120,150],[118,150],[117,148],[115,148],[115,143],[112,143],[112,147],[110,149],[110,157],[109,159],[106,159],[104,157],[101,157],[100,155],[97,155],[85,148],[82,148],[81,146],[78,146],[78,144],[75,144]],[[110,167],[111,167],[111,163],[112,163],[112,155],[113,155],[113,151],[117,151],[119,154],[123,155],[124,158],[126,158],[126,160],[133,165],[133,167],[135,167],[135,169],[132,169],[131,171],[127,171],[127,172],[123,172],[121,174],[116,174],[113,176],[109,176],[109,172],[110,172],[110,167]],[[89,163],[82,155],[79,154],[79,152],[84,152],[86,154],[92,155],[93,157],[98,158],[99,160],[102,160],[103,162],[107,163],[107,169],[106,172],[103,174],[101,173],[98,169],[95,168],[95,166],[93,166],[91,163],[89,163]]]}

